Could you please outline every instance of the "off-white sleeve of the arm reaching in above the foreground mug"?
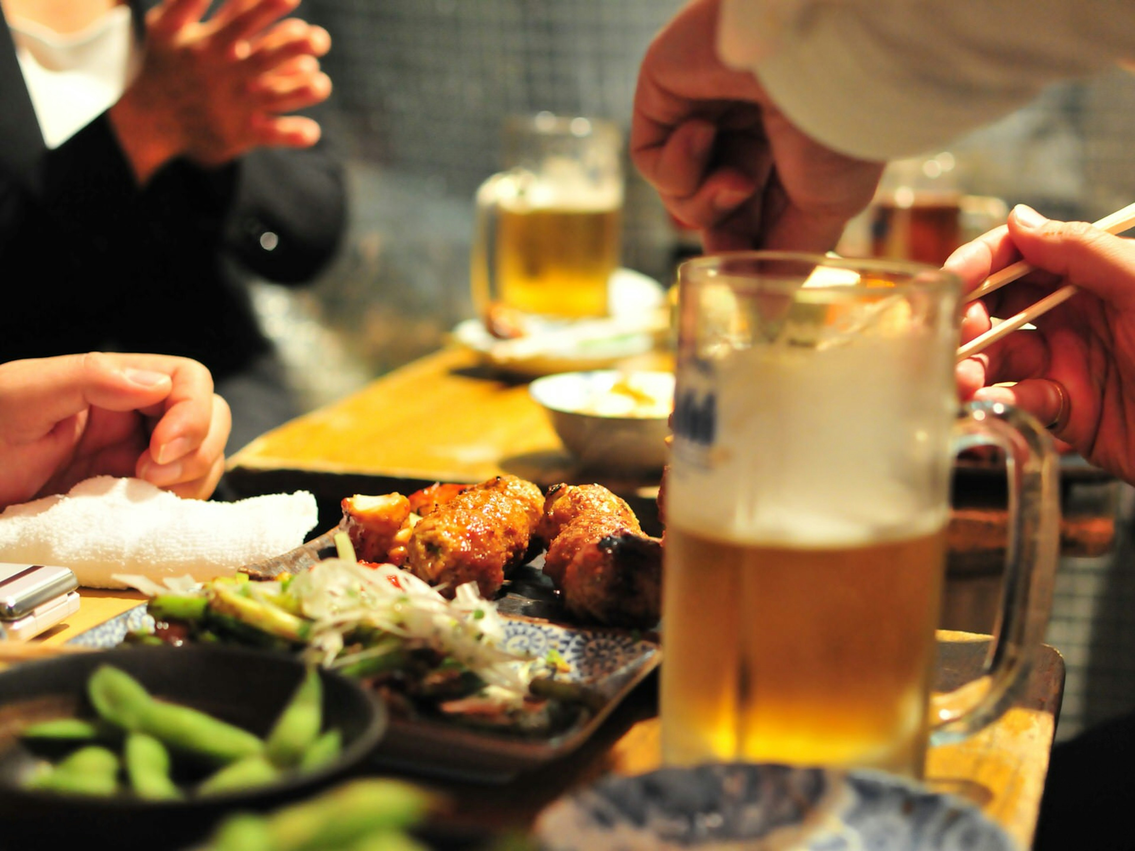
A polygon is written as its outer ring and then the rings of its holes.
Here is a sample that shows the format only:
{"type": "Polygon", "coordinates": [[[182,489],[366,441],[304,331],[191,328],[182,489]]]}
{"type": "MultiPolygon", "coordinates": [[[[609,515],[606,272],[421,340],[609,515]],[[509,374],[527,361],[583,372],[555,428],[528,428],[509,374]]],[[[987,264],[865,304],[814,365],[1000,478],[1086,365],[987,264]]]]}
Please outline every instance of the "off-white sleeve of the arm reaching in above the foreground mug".
{"type": "Polygon", "coordinates": [[[1135,59],[1135,2],[721,0],[717,49],[813,138],[885,160],[1135,59]]]}

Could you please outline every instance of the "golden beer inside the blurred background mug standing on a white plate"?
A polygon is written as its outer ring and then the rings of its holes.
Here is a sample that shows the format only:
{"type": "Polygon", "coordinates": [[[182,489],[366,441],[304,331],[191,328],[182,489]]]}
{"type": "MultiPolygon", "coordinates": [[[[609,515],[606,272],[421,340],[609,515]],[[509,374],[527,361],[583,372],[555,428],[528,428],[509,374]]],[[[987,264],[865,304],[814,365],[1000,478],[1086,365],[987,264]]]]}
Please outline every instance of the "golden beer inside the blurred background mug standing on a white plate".
{"type": "Polygon", "coordinates": [[[510,209],[502,203],[496,234],[501,300],[545,315],[606,315],[621,228],[619,207],[510,209]]]}

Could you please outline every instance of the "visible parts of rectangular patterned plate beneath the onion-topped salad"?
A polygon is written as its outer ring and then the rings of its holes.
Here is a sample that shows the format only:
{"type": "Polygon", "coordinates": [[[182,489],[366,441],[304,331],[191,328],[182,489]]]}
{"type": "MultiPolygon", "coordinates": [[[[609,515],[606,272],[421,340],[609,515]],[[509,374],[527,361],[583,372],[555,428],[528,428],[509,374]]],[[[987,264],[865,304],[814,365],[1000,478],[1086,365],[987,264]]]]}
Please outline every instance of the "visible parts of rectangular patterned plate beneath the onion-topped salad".
{"type": "MultiPolygon", "coordinates": [[[[519,738],[440,721],[392,718],[379,745],[380,760],[427,774],[505,781],[582,744],[662,658],[656,640],[628,630],[586,629],[510,615],[504,618],[506,649],[539,656],[558,651],[570,666],[566,677],[588,686],[603,698],[603,705],[549,738],[519,738]]],[[[153,618],[141,605],[79,633],[68,643],[116,647],[127,632],[152,625],[153,618]]]]}

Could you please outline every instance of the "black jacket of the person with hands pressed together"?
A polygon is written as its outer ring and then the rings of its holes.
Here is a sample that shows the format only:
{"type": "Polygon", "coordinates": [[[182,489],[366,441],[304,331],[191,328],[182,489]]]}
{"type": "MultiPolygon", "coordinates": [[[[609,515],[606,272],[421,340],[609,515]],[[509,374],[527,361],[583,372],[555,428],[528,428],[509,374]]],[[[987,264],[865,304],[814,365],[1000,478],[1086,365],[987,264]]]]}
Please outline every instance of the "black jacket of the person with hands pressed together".
{"type": "MultiPolygon", "coordinates": [[[[218,169],[170,162],[145,188],[106,113],[49,150],[0,16],[0,361],[155,352],[194,357],[218,382],[262,366],[272,348],[232,269],[309,281],[344,220],[342,170],[323,143],[218,169]]],[[[241,401],[229,403],[236,430],[241,401]]]]}

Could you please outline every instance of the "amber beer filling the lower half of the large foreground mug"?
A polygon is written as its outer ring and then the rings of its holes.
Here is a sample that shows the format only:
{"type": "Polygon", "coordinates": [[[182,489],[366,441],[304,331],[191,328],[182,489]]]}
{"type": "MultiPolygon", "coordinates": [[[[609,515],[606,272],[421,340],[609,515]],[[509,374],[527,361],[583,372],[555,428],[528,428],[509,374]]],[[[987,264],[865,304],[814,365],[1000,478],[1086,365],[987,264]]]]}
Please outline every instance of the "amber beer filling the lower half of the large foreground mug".
{"type": "Polygon", "coordinates": [[[664,760],[919,776],[944,531],[807,547],[717,540],[678,520],[666,529],[664,760]]]}

